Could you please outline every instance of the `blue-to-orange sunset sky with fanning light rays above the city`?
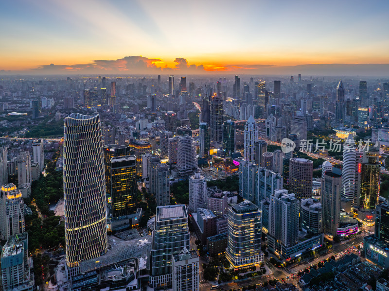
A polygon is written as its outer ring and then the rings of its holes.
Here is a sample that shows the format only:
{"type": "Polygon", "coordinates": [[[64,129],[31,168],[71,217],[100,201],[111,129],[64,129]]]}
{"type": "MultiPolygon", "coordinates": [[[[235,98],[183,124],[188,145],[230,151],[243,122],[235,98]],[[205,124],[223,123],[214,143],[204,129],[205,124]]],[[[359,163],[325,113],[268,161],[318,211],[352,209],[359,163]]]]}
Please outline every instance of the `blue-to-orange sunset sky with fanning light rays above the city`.
{"type": "Polygon", "coordinates": [[[2,1],[0,70],[196,73],[389,64],[388,15],[387,0],[2,1]]]}

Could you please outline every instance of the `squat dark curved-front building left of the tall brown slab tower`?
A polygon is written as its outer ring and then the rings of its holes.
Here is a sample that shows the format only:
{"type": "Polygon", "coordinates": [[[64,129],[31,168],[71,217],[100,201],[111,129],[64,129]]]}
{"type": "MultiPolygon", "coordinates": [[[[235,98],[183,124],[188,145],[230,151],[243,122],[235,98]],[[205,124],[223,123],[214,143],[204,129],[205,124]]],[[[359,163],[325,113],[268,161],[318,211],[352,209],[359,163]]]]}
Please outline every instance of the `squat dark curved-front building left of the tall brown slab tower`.
{"type": "Polygon", "coordinates": [[[322,229],[323,211],[321,203],[312,198],[301,199],[301,229],[305,233],[319,234],[322,229]]]}

